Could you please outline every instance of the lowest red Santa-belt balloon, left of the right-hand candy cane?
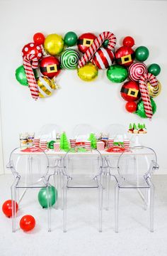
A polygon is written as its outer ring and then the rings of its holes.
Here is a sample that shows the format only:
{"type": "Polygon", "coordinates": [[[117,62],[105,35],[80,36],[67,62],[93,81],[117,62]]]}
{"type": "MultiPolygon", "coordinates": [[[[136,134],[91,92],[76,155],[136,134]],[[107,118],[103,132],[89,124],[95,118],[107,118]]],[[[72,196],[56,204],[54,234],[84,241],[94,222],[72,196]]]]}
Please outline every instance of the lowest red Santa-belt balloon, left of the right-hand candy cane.
{"type": "Polygon", "coordinates": [[[138,83],[134,81],[125,82],[124,85],[122,85],[120,94],[122,98],[128,102],[139,100],[140,92],[138,83]]]}

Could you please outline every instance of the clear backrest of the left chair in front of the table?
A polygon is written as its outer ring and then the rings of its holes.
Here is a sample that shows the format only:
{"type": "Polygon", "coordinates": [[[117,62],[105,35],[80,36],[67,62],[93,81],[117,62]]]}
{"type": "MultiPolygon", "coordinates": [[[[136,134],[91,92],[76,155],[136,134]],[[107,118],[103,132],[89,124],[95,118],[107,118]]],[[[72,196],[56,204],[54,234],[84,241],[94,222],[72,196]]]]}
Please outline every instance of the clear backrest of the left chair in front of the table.
{"type": "Polygon", "coordinates": [[[20,148],[11,151],[8,168],[15,178],[21,178],[23,187],[33,186],[46,177],[49,171],[49,159],[42,149],[38,152],[28,153],[20,148]]]}

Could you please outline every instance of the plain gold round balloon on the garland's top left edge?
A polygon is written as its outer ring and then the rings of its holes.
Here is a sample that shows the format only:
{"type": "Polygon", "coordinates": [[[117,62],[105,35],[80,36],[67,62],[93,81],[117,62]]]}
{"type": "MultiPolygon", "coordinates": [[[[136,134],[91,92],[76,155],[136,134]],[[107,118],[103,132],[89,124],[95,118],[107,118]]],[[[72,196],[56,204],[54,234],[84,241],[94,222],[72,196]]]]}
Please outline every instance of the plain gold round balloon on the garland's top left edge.
{"type": "Polygon", "coordinates": [[[50,34],[45,38],[44,48],[50,55],[59,55],[64,48],[62,36],[50,34]]]}

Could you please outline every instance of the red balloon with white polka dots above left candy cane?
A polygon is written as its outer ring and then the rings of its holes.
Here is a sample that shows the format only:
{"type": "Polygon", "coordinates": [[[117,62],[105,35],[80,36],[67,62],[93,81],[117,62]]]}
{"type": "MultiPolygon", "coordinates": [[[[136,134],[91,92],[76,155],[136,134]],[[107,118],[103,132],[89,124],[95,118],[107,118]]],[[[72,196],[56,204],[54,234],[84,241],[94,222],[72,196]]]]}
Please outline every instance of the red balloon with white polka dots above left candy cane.
{"type": "Polygon", "coordinates": [[[35,43],[28,43],[22,49],[22,56],[24,57],[28,54],[35,55],[40,60],[42,58],[42,48],[35,43]]]}

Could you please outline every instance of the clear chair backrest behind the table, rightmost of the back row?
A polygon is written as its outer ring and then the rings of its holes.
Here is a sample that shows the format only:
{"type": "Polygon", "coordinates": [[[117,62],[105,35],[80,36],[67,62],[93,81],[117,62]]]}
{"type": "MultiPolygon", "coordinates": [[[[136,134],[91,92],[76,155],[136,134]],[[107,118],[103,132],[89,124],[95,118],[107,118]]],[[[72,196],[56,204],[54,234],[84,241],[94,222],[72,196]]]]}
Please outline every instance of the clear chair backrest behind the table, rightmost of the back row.
{"type": "Polygon", "coordinates": [[[110,138],[113,138],[117,141],[123,141],[126,137],[127,130],[122,124],[109,124],[103,129],[105,134],[108,134],[110,138]]]}

